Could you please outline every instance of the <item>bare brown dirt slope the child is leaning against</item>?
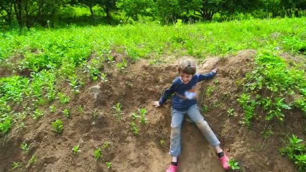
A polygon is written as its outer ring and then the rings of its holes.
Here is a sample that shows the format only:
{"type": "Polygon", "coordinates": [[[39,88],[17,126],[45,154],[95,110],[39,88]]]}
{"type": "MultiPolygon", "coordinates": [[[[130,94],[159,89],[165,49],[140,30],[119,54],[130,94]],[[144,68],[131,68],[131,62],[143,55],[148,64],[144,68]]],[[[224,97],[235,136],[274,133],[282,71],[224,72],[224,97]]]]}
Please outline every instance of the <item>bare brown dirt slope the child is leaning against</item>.
{"type": "MultiPolygon", "coordinates": [[[[208,58],[199,64],[199,72],[209,72],[218,67],[218,74],[214,79],[198,84],[198,104],[208,106],[209,112],[204,114],[204,118],[219,137],[223,150],[240,162],[241,171],[296,171],[293,163],[282,157],[278,149],[287,133],[305,139],[300,131],[301,126],[305,126],[301,113],[285,114],[288,116],[285,124],[272,126],[274,134],[266,140],[260,134],[263,128],[267,128],[265,124],[255,121],[250,129],[240,124],[243,112],[236,102],[241,94],[238,81],[252,67],[249,62],[255,54],[254,50],[245,50],[235,56],[208,58]],[[215,84],[214,80],[218,83],[215,84]],[[202,93],[209,85],[213,92],[206,97],[202,93]],[[228,108],[235,110],[234,116],[227,116],[228,108]]],[[[55,102],[56,113],[50,113],[50,105],[47,105],[42,108],[45,113],[38,121],[27,117],[23,129],[17,127],[21,122],[18,121],[12,131],[1,138],[0,171],[9,171],[12,161],[25,163],[15,171],[165,171],[170,162],[170,101],[161,108],[150,104],[160,98],[162,91],[177,76],[176,64],[177,61],[149,65],[140,60],[130,64],[126,72],[117,71],[115,65],[105,65],[108,82],[88,81],[79,95],[70,93],[68,105],[55,102]],[[101,93],[94,99],[89,88],[97,84],[101,93]],[[124,112],[122,121],[113,116],[112,106],[118,102],[124,112]],[[79,105],[84,107],[83,113],[78,112],[79,105]],[[64,108],[70,109],[68,119],[61,113],[64,108]],[[140,131],[138,136],[134,136],[129,123],[131,113],[137,112],[138,108],[147,108],[148,121],[144,126],[137,121],[140,131]],[[92,116],[95,111],[98,113],[96,118],[92,116]],[[51,122],[57,118],[63,121],[62,134],[54,134],[51,129],[51,122]],[[161,139],[165,144],[160,144],[161,139]],[[20,148],[24,141],[31,148],[28,154],[20,148]],[[105,141],[110,142],[110,147],[102,149],[103,157],[96,161],[93,151],[102,147],[105,141]],[[78,144],[82,152],[73,154],[71,148],[78,144]],[[29,165],[32,155],[38,160],[29,165]],[[112,162],[110,169],[106,168],[107,161],[112,162]]],[[[180,161],[179,171],[224,171],[214,149],[188,121],[184,121],[182,127],[180,161]]]]}

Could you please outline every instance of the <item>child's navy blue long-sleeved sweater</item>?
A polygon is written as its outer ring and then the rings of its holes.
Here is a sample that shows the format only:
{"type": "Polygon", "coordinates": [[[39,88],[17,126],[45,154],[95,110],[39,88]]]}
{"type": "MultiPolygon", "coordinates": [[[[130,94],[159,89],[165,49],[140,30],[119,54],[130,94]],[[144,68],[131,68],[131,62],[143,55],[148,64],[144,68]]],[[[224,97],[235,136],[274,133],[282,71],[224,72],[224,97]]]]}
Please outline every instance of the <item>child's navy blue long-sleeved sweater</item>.
{"type": "Polygon", "coordinates": [[[198,82],[210,79],[215,74],[216,73],[214,72],[209,72],[207,74],[196,73],[186,84],[182,82],[179,76],[176,77],[173,80],[171,87],[165,91],[164,95],[160,99],[160,105],[162,106],[167,101],[169,96],[175,93],[172,98],[172,108],[181,112],[187,111],[192,105],[197,103],[195,99],[186,98],[186,95],[189,94],[188,91],[193,89],[198,82]]]}

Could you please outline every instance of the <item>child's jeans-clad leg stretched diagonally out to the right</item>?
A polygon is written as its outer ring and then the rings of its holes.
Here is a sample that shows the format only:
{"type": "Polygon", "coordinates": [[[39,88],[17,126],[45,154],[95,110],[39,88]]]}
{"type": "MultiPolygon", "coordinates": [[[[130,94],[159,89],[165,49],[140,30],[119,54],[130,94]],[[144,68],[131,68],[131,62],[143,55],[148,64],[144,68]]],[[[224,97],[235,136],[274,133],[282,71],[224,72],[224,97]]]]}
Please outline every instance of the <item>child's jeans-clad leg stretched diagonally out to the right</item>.
{"type": "MultiPolygon", "coordinates": [[[[208,123],[204,120],[203,116],[200,114],[197,105],[193,105],[187,111],[188,116],[192,121],[195,122],[197,127],[201,130],[202,134],[205,136],[206,140],[210,145],[214,146],[216,149],[219,148],[220,141],[217,139],[214,132],[209,127],[208,123]]],[[[217,149],[217,153],[219,153],[217,149]]],[[[222,151],[222,149],[221,149],[222,151]]]]}

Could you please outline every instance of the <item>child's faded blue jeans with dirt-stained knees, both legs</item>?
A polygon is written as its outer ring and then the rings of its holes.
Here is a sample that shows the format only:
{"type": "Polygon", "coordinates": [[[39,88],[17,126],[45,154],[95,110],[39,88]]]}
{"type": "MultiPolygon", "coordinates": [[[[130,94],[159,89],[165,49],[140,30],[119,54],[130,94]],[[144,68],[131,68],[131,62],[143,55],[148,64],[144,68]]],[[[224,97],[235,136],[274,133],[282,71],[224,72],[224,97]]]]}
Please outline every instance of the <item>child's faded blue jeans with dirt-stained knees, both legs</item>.
{"type": "Polygon", "coordinates": [[[191,106],[187,111],[180,112],[175,109],[171,111],[171,136],[170,136],[170,154],[171,156],[178,156],[181,152],[181,126],[184,115],[187,114],[196,126],[201,130],[206,140],[212,146],[217,146],[220,141],[210,129],[203,116],[200,114],[197,105],[191,106]]]}

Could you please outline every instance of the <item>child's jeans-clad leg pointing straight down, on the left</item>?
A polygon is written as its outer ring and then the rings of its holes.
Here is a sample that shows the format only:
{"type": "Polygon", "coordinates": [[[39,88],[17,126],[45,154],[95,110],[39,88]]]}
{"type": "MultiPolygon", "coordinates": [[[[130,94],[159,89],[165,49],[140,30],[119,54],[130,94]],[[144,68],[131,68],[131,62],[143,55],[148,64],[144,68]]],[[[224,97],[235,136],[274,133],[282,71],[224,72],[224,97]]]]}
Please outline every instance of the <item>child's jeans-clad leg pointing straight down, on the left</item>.
{"type": "Polygon", "coordinates": [[[171,136],[170,136],[169,153],[173,157],[178,157],[181,152],[181,126],[184,114],[175,109],[172,109],[171,116],[172,119],[171,119],[171,136]]]}

